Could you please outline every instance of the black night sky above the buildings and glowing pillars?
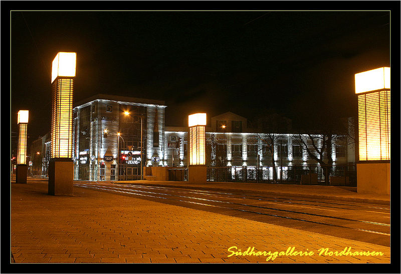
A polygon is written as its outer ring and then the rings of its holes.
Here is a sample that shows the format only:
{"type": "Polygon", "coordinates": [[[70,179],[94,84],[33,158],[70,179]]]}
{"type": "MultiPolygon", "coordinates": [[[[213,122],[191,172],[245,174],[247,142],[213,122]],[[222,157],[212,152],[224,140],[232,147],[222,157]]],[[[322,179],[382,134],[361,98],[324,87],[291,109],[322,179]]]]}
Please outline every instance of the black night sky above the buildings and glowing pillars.
{"type": "MultiPolygon", "coordinates": [[[[390,65],[390,12],[11,13],[11,122],[50,130],[51,64],[77,52],[74,101],[164,100],[167,125],[272,108],[302,126],[355,115],[354,74],[390,65]]],[[[398,22],[399,23],[399,22],[398,22]]]]}

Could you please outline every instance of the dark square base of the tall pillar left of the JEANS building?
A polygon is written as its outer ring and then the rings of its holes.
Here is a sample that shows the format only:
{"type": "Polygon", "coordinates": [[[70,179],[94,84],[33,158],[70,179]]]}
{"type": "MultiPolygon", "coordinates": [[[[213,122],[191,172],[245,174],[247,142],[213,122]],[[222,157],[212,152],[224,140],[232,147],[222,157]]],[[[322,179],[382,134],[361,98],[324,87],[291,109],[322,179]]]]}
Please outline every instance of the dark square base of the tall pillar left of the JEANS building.
{"type": "Polygon", "coordinates": [[[48,193],[55,196],[73,196],[74,162],[69,158],[49,161],[48,193]]]}

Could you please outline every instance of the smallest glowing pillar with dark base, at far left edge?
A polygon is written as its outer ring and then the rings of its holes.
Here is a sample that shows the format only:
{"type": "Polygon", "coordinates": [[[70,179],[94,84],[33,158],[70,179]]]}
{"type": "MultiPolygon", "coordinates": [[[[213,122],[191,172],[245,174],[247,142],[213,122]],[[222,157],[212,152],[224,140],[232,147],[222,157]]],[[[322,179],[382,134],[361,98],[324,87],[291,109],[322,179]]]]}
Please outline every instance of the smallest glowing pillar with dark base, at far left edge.
{"type": "Polygon", "coordinates": [[[18,112],[18,146],[17,146],[17,168],[16,183],[27,183],[27,132],[28,132],[29,111],[20,110],[18,112]]]}

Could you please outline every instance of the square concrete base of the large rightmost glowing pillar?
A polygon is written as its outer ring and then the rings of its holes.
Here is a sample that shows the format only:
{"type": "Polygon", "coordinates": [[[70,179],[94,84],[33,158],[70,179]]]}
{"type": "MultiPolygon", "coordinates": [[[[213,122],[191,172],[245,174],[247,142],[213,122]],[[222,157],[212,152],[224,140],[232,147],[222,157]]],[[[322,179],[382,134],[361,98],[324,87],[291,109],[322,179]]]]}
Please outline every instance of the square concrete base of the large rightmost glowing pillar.
{"type": "Polygon", "coordinates": [[[390,194],[390,163],[357,163],[356,190],[366,194],[390,194]]]}

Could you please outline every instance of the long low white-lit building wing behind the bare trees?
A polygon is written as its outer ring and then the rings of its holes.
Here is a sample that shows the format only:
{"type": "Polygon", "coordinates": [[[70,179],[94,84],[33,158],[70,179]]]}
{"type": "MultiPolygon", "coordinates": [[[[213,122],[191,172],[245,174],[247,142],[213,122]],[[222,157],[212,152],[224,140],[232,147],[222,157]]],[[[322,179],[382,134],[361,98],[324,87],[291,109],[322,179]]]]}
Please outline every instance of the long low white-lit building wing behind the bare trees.
{"type": "MultiPolygon", "coordinates": [[[[283,123],[290,124],[285,120],[283,123]]],[[[206,127],[206,165],[207,166],[268,166],[272,165],[270,152],[267,145],[261,140],[255,141],[255,134],[258,128],[249,128],[245,117],[232,112],[227,112],[211,118],[211,125],[206,127]],[[224,128],[222,126],[225,126],[224,128]],[[211,156],[215,162],[210,160],[211,156]]],[[[287,126],[285,132],[290,132],[291,127],[287,126]]],[[[164,166],[187,166],[188,145],[187,127],[165,128],[164,166]],[[178,137],[182,142],[179,148],[176,147],[178,137]],[[179,151],[179,157],[178,157],[179,151]],[[173,156],[174,155],[174,156],[173,156]]],[[[297,134],[277,134],[277,141],[274,144],[274,160],[277,166],[283,165],[305,165],[316,164],[316,161],[309,157],[306,150],[296,141],[297,134]]],[[[312,143],[308,140],[308,147],[313,151],[312,143]]],[[[354,154],[353,148],[347,146],[347,140],[337,138],[332,144],[332,159],[335,164],[347,164],[354,162],[350,157],[354,154]]],[[[191,162],[189,161],[189,165],[191,162]]],[[[283,167],[285,169],[285,167],[283,167]]]]}

